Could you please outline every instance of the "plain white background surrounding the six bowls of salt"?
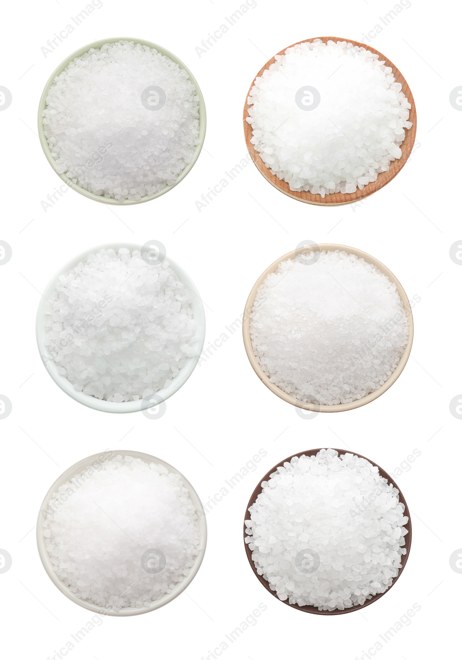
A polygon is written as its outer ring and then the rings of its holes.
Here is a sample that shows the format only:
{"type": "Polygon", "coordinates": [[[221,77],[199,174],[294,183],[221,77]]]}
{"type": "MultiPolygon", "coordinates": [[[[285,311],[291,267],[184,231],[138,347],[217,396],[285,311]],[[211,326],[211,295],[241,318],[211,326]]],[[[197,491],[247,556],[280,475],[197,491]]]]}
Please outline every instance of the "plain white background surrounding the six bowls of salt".
{"type": "Polygon", "coordinates": [[[41,47],[85,0],[4,6],[0,85],[13,94],[10,108],[0,112],[0,239],[13,249],[11,261],[0,267],[0,394],[13,403],[10,416],[0,420],[0,548],[13,557],[11,569],[0,574],[5,657],[52,658],[90,620],[91,613],[66,599],[45,574],[34,527],[51,483],[72,463],[107,447],[165,459],[192,482],[203,502],[258,449],[267,455],[208,515],[206,556],[187,591],[149,614],[106,617],[69,653],[72,660],[200,660],[259,603],[266,611],[223,653],[226,660],[282,655],[355,660],[414,603],[420,611],[378,651],[380,660],[453,654],[462,581],[449,566],[449,555],[462,546],[462,421],[449,413],[449,401],[462,391],[462,267],[449,259],[449,247],[462,235],[457,197],[462,112],[449,104],[449,92],[462,82],[456,3],[412,0],[371,38],[401,70],[417,105],[420,147],[384,189],[357,207],[305,205],[279,193],[249,164],[201,213],[195,205],[246,155],[243,105],[260,67],[306,38],[364,41],[363,33],[373,31],[393,6],[393,0],[257,0],[201,57],[196,46],[238,9],[239,0],[103,0],[47,57],[41,47]],[[72,51],[114,36],[161,44],[190,67],[206,101],[204,149],[187,178],[159,199],[109,208],[68,191],[45,213],[41,201],[61,182],[36,134],[43,86],[72,51]],[[438,45],[430,42],[434,37],[438,45]],[[159,420],[78,405],[40,360],[34,336],[40,292],[55,271],[88,248],[151,239],[161,240],[196,283],[206,304],[206,346],[239,318],[260,273],[301,240],[363,249],[395,273],[409,298],[421,298],[413,310],[411,358],[378,400],[304,420],[260,383],[237,331],[167,401],[159,420]],[[421,451],[396,478],[413,522],[405,571],[379,601],[342,616],[304,614],[278,602],[250,570],[243,544],[245,507],[258,480],[281,459],[323,446],[357,451],[388,472],[413,449],[421,451]]]}

